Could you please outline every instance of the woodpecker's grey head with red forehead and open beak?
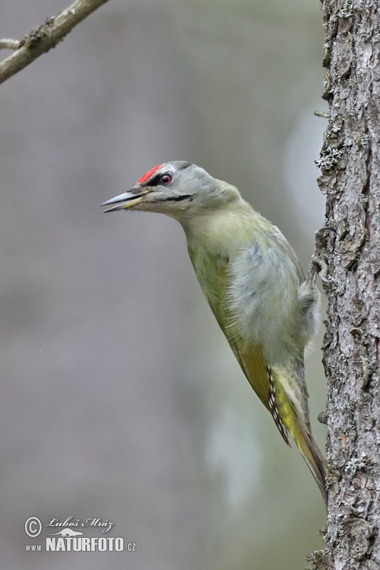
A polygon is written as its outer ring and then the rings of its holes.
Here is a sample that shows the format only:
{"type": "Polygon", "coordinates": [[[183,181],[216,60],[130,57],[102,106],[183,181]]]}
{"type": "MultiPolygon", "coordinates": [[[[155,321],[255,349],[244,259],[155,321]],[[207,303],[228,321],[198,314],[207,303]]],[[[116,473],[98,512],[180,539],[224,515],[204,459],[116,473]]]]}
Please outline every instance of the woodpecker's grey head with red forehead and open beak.
{"type": "Polygon", "coordinates": [[[181,219],[205,209],[215,209],[240,197],[235,187],[212,178],[191,162],[164,162],[145,173],[125,194],[101,206],[105,212],[133,209],[160,212],[181,219]]]}

